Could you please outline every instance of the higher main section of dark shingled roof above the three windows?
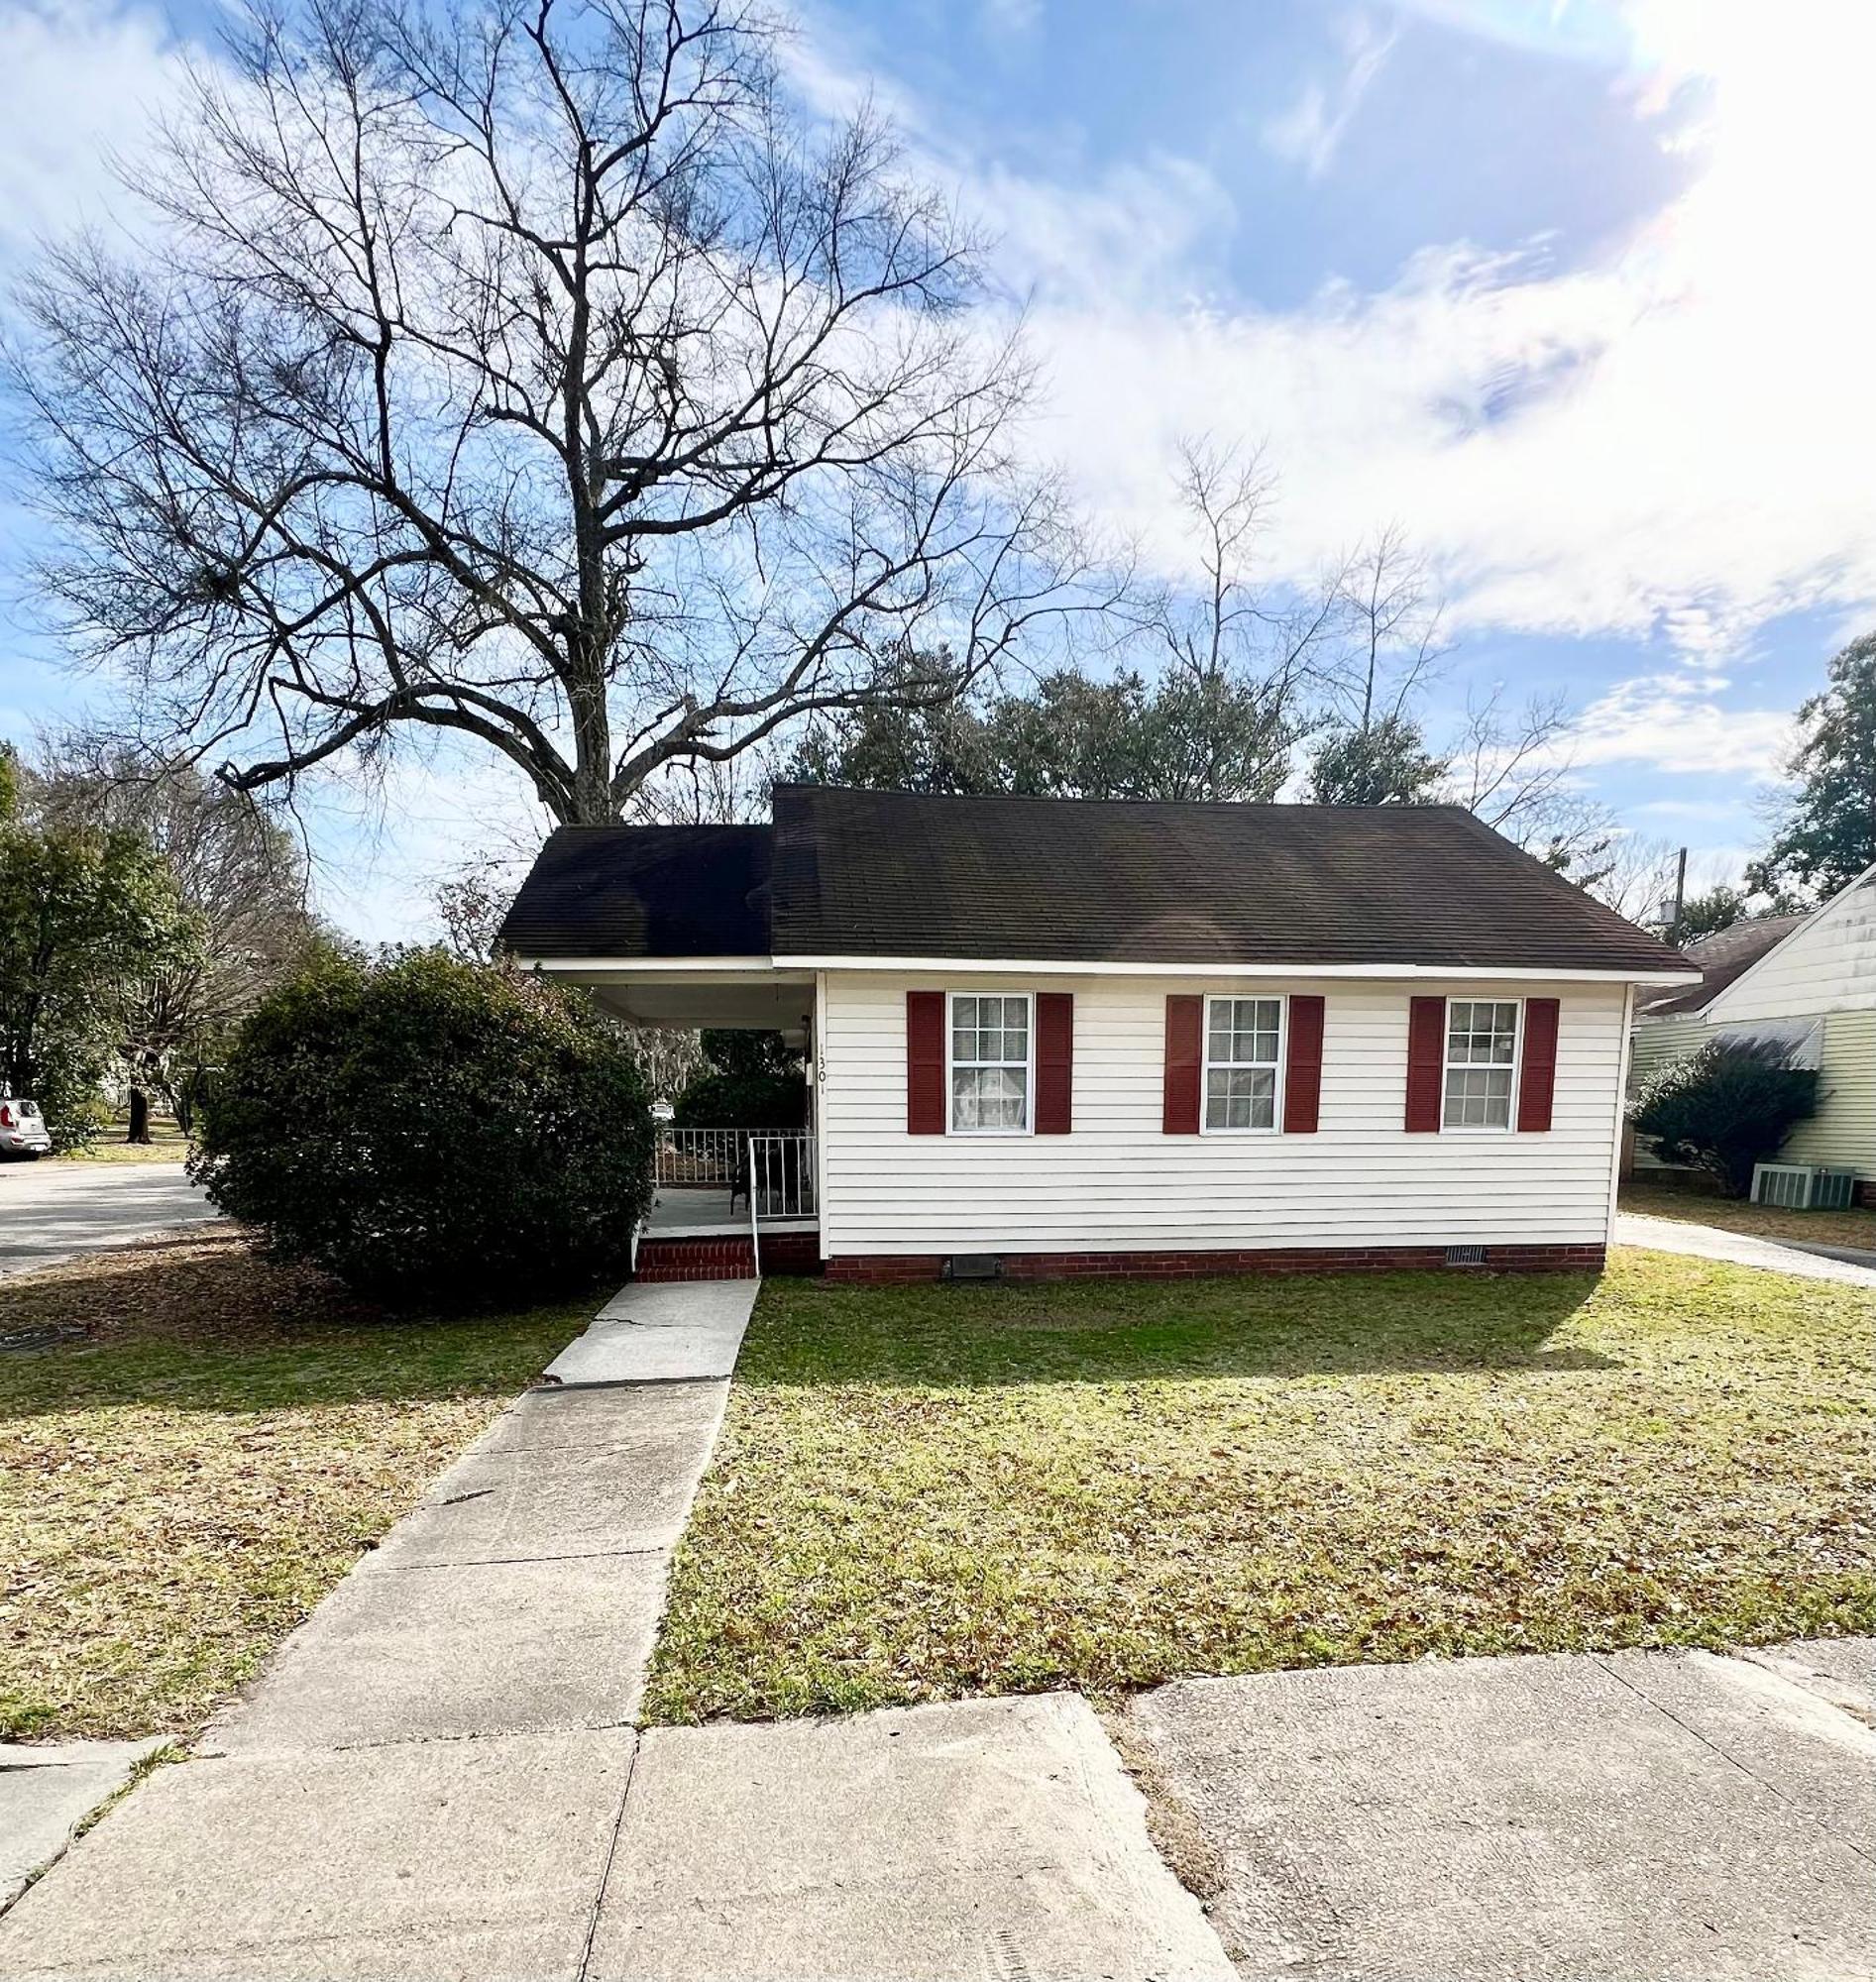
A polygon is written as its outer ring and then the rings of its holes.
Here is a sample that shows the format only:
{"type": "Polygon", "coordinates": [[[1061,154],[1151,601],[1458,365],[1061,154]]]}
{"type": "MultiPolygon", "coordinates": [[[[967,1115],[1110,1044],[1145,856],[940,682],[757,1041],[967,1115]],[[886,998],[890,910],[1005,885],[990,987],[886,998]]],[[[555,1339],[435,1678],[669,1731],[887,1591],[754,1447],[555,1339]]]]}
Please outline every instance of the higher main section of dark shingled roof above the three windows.
{"type": "Polygon", "coordinates": [[[1448,805],[775,789],[775,953],[1674,969],[1448,805]]]}

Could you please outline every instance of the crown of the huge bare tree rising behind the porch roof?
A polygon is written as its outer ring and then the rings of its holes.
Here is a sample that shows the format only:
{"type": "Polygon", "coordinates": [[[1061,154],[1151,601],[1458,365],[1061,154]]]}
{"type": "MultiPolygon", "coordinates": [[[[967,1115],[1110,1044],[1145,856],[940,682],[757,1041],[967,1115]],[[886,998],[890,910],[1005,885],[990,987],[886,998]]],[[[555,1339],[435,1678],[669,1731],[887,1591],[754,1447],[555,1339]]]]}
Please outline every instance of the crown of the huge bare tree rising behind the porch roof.
{"type": "Polygon", "coordinates": [[[26,287],[12,377],[79,648],[240,791],[422,729],[559,821],[966,680],[1085,573],[871,113],[813,129],[736,0],[256,12],[133,174],[147,252],[26,287]]]}

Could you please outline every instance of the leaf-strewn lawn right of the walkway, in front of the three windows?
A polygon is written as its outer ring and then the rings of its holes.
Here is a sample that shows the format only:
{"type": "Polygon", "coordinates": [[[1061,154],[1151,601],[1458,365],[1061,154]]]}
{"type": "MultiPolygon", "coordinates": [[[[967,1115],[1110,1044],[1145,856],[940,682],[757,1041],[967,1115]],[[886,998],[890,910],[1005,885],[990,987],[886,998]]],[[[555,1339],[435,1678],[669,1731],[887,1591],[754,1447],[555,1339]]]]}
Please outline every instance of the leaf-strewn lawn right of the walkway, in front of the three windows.
{"type": "Polygon", "coordinates": [[[769,1282],[646,1714],[1876,1629],[1876,1296],[769,1282]]]}

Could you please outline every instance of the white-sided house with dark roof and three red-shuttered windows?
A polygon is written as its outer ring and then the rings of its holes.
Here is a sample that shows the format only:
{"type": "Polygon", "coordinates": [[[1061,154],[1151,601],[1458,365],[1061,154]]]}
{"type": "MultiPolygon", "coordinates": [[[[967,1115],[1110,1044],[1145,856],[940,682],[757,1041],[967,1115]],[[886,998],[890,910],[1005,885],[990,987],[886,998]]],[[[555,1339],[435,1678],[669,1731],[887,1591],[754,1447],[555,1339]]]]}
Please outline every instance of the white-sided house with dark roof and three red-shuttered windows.
{"type": "Polygon", "coordinates": [[[809,1048],[833,1278],[1596,1265],[1636,987],[1692,981],[1456,807],[807,785],[563,826],[502,941],[809,1048]]]}

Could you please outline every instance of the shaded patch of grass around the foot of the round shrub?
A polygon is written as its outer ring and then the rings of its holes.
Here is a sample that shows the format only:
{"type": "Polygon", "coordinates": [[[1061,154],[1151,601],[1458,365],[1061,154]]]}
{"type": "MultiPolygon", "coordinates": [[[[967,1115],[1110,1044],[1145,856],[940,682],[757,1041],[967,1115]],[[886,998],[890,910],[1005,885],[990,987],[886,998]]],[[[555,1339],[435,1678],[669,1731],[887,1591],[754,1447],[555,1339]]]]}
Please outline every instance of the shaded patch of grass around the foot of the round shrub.
{"type": "Polygon", "coordinates": [[[0,1336],[69,1336],[0,1352],[0,1421],[125,1403],[226,1413],[514,1391],[611,1292],[506,1312],[387,1310],[216,1227],[0,1280],[0,1336]]]}

